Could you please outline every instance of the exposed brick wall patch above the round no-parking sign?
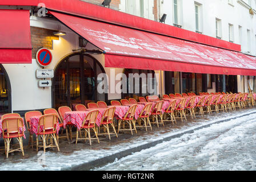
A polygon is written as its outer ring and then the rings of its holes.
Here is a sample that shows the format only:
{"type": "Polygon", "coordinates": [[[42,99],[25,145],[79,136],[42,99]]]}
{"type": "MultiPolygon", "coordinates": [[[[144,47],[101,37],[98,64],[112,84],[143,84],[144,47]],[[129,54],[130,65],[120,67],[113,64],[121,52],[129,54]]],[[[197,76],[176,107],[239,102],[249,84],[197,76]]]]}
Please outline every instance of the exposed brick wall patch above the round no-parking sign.
{"type": "Polygon", "coordinates": [[[54,30],[30,27],[32,42],[32,59],[35,59],[40,48],[53,49],[53,40],[59,40],[59,36],[53,35],[54,30]]]}

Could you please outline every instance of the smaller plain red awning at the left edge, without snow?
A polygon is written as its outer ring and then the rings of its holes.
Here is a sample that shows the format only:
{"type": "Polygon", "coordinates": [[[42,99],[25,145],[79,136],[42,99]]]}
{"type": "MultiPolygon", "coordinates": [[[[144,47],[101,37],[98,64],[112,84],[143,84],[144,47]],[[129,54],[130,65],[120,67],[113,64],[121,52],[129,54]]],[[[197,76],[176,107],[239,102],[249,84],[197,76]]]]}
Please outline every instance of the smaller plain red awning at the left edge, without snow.
{"type": "Polygon", "coordinates": [[[0,10],[0,63],[31,63],[29,10],[0,10]]]}

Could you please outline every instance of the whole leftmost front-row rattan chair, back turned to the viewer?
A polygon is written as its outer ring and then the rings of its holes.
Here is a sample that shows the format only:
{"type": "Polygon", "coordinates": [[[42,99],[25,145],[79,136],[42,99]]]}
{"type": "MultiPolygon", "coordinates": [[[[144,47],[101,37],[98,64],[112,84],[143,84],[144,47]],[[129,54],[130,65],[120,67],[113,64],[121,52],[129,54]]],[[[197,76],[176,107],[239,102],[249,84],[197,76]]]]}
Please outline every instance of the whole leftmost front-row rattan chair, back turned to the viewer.
{"type": "Polygon", "coordinates": [[[23,119],[21,117],[10,117],[10,118],[4,118],[2,121],[2,130],[3,130],[3,139],[5,140],[5,152],[6,152],[6,158],[8,158],[8,155],[10,152],[14,151],[20,151],[22,152],[22,155],[24,156],[23,151],[23,143],[22,143],[22,137],[24,135],[24,131],[20,131],[20,128],[23,128],[24,123],[23,119]],[[17,138],[19,142],[19,148],[10,150],[10,143],[11,139],[17,138]]]}

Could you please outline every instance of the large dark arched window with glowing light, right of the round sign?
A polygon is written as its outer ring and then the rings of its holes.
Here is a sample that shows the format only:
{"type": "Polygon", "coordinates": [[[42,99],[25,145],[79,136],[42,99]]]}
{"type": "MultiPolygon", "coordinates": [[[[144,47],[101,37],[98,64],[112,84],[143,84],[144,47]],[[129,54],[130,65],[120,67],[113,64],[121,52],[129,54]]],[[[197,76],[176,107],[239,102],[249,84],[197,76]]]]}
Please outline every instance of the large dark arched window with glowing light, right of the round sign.
{"type": "Polygon", "coordinates": [[[97,76],[105,73],[94,57],[74,53],[65,57],[55,69],[53,83],[53,105],[72,106],[90,101],[105,101],[106,94],[97,92],[97,76]]]}

